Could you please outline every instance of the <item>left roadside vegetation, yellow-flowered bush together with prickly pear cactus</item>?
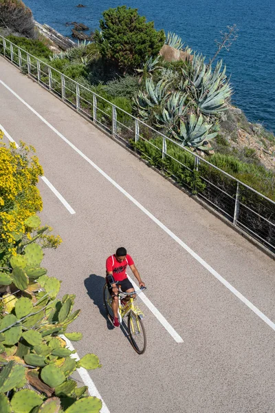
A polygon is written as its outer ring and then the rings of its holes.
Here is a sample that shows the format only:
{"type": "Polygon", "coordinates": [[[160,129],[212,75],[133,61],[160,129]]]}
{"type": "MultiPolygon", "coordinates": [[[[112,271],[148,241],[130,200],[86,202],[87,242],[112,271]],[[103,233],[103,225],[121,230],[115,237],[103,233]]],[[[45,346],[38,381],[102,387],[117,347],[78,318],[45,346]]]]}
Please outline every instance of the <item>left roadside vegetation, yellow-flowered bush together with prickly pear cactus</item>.
{"type": "Polygon", "coordinates": [[[76,368],[100,367],[95,354],[80,361],[61,337],[80,310],[74,295],[57,298],[61,282],[41,266],[45,248],[59,236],[41,225],[42,200],[36,187],[43,169],[34,148],[6,147],[0,131],[0,412],[98,413],[101,401],[71,378],[76,368]]]}

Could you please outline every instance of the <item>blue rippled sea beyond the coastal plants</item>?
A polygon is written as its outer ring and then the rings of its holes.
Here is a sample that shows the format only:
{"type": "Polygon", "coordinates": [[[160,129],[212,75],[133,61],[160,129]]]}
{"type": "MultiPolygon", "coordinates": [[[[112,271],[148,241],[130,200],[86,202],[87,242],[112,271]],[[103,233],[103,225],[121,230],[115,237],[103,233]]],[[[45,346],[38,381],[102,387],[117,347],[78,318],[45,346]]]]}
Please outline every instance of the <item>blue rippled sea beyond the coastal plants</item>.
{"type": "Polygon", "coordinates": [[[234,88],[233,103],[251,122],[275,132],[275,0],[24,0],[34,19],[47,23],[65,36],[71,35],[69,21],[98,28],[108,8],[137,8],[157,30],[175,32],[192,50],[208,58],[217,50],[215,39],[236,24],[238,39],[230,51],[219,54],[227,66],[234,88]]]}

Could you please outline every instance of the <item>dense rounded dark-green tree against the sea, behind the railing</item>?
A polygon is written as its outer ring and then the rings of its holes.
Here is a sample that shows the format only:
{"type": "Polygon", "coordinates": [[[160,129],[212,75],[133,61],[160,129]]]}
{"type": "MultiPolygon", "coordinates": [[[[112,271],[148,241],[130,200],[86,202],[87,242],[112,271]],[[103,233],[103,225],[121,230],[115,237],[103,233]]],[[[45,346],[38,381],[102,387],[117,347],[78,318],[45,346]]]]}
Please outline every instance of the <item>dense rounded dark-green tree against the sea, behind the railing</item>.
{"type": "Polygon", "coordinates": [[[156,56],[164,45],[164,30],[155,30],[137,9],[119,6],[103,12],[94,39],[104,59],[112,61],[124,74],[133,72],[147,57],[156,56]]]}

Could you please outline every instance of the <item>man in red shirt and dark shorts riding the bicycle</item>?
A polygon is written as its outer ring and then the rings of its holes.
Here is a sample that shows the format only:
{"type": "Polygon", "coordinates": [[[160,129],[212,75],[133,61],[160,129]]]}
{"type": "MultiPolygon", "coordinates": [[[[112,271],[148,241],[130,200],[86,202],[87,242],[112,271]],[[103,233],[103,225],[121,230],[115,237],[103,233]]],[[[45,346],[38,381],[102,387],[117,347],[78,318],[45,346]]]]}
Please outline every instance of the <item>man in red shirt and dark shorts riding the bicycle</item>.
{"type": "MultiPolygon", "coordinates": [[[[126,249],[121,246],[115,252],[115,254],[110,255],[106,260],[106,279],[109,289],[109,293],[112,297],[112,310],[113,310],[113,325],[119,327],[120,323],[118,321],[118,286],[120,285],[121,290],[124,293],[133,293],[134,288],[130,280],[127,278],[126,268],[130,266],[133,275],[137,279],[140,287],[145,287],[144,282],[140,278],[140,274],[135,268],[132,257],[127,254],[126,249]]],[[[126,304],[126,299],[122,301],[122,304],[126,304]]]]}

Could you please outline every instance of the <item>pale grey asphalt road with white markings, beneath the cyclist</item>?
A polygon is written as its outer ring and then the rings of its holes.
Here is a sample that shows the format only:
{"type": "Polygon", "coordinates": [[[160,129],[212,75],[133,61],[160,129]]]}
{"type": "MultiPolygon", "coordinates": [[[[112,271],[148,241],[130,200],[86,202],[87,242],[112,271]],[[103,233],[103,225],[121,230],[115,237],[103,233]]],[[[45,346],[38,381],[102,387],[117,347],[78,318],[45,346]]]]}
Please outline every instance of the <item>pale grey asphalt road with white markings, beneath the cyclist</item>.
{"type": "Polygon", "coordinates": [[[0,80],[59,133],[0,83],[1,125],[36,147],[45,176],[75,211],[39,183],[43,223],[63,238],[43,265],[63,280],[62,293],[76,293],[82,313],[72,330],[84,338],[75,346],[80,357],[100,357],[90,374],[109,411],[275,412],[274,260],[3,58],[0,80]],[[108,324],[104,264],[118,246],[182,343],[142,301],[142,356],[108,324]]]}

